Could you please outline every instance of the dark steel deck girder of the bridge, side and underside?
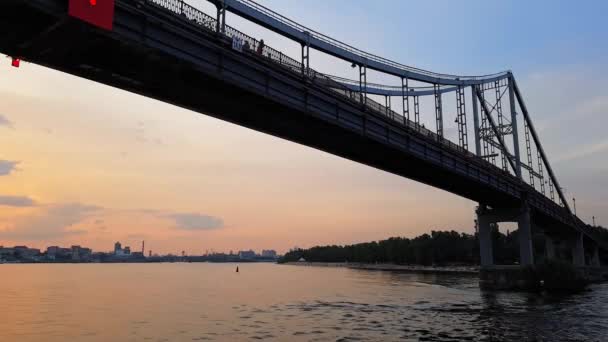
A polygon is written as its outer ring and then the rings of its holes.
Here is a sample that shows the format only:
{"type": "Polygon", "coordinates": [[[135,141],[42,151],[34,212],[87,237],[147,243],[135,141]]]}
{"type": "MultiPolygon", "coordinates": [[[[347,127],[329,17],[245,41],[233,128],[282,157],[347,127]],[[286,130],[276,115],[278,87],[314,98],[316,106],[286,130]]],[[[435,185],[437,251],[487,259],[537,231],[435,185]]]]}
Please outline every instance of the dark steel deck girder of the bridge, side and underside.
{"type": "MultiPolygon", "coordinates": [[[[0,4],[0,52],[323,150],[491,207],[520,208],[521,196],[528,189],[509,181],[501,170],[488,170],[474,156],[446,152],[441,144],[366,112],[291,71],[234,52],[224,39],[179,19],[149,6],[118,6],[114,31],[105,32],[67,17],[67,1],[5,0],[0,4]]],[[[540,204],[531,206],[534,226],[556,234],[572,230],[563,217],[540,208],[540,204]]]]}

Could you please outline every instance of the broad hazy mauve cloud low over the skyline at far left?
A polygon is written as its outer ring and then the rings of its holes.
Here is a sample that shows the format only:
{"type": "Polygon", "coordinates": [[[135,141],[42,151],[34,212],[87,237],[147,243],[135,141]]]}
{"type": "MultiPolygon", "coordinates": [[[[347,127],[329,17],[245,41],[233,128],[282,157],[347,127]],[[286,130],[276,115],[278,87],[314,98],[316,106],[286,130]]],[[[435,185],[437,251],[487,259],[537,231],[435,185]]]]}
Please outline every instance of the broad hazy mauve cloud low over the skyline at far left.
{"type": "Polygon", "coordinates": [[[44,241],[85,233],[70,229],[94,215],[101,208],[80,203],[44,207],[40,212],[18,220],[13,227],[0,231],[0,238],[26,241],[44,241]]]}

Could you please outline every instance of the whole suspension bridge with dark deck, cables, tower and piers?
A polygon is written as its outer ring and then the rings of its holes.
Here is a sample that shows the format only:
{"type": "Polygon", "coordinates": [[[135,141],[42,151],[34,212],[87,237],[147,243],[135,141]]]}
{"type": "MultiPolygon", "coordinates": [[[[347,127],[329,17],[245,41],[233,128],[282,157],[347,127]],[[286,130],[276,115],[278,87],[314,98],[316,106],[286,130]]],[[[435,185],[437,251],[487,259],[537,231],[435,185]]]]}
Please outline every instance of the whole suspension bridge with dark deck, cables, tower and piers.
{"type": "Polygon", "coordinates": [[[182,0],[3,0],[0,52],[15,66],[36,63],[475,201],[483,267],[494,265],[491,232],[500,222],[518,224],[520,265],[535,263],[532,236],[543,234],[543,258],[599,266],[607,246],[571,211],[512,72],[422,70],[252,0],[208,1],[215,13],[182,0]],[[301,54],[236,30],[227,12],[296,42],[301,54]],[[359,79],[315,71],[311,49],[359,79]],[[394,82],[368,82],[369,73],[394,82]],[[424,125],[429,117],[434,127],[424,125]]]}

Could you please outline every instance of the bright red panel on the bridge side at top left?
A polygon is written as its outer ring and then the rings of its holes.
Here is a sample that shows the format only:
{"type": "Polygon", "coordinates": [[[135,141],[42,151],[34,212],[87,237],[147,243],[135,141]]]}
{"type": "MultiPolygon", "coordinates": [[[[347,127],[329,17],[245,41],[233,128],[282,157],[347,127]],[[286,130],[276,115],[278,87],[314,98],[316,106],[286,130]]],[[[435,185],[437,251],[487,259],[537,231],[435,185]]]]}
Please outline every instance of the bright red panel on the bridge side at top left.
{"type": "Polygon", "coordinates": [[[111,31],[114,24],[114,0],[70,0],[68,13],[72,17],[111,31]]]}

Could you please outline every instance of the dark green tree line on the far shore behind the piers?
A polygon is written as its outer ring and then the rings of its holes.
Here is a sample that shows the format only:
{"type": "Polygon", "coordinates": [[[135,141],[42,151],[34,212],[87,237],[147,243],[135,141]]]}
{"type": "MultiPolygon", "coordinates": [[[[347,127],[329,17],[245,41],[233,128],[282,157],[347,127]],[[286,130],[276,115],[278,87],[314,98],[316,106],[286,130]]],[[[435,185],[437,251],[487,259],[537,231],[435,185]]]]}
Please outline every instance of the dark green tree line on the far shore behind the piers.
{"type": "MultiPolygon", "coordinates": [[[[608,242],[608,230],[595,227],[597,236],[608,242]]],[[[497,264],[515,264],[519,260],[517,230],[503,234],[494,226],[492,230],[494,261],[497,264]]],[[[543,235],[533,236],[535,255],[543,255],[543,235]]],[[[316,246],[308,249],[293,249],[279,262],[356,262],[394,263],[416,265],[476,265],[479,264],[479,241],[477,234],[451,231],[431,231],[409,239],[391,237],[386,240],[364,242],[344,246],[316,246]]]]}

